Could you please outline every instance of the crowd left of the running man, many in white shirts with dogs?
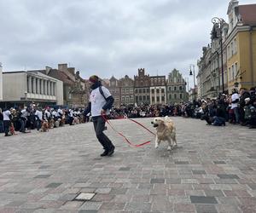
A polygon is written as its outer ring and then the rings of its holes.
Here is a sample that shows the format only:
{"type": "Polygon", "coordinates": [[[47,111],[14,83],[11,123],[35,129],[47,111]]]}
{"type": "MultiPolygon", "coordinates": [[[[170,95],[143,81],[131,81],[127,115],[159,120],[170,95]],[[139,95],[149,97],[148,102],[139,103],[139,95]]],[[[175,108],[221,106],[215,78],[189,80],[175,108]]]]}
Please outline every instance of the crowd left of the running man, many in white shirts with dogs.
{"type": "Polygon", "coordinates": [[[89,121],[79,108],[38,107],[32,103],[27,107],[0,108],[0,133],[14,135],[15,131],[27,133],[29,130],[48,131],[65,124],[80,124],[89,121]]]}

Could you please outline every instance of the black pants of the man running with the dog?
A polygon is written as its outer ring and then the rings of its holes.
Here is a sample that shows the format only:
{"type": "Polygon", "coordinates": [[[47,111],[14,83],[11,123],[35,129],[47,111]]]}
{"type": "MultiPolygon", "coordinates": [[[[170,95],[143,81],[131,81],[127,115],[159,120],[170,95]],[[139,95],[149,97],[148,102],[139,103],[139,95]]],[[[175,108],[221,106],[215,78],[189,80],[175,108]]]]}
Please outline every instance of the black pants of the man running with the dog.
{"type": "Polygon", "coordinates": [[[103,131],[105,130],[105,120],[102,118],[102,116],[96,116],[92,117],[92,121],[98,141],[100,141],[102,147],[105,150],[109,151],[113,147],[113,143],[109,140],[107,135],[103,133],[103,131]]]}

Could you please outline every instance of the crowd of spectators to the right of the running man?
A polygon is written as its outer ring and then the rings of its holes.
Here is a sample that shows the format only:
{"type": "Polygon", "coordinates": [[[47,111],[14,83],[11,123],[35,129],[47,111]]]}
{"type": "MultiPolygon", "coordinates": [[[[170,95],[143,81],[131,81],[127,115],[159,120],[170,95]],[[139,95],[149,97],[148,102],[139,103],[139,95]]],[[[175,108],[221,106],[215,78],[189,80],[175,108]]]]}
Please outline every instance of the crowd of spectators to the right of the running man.
{"type": "Polygon", "coordinates": [[[154,105],[141,107],[114,108],[110,118],[144,118],[183,116],[184,118],[201,118],[207,124],[216,126],[230,124],[256,127],[256,95],[255,87],[250,90],[232,89],[232,94],[218,95],[217,98],[207,98],[187,103],[173,105],[154,105]]]}

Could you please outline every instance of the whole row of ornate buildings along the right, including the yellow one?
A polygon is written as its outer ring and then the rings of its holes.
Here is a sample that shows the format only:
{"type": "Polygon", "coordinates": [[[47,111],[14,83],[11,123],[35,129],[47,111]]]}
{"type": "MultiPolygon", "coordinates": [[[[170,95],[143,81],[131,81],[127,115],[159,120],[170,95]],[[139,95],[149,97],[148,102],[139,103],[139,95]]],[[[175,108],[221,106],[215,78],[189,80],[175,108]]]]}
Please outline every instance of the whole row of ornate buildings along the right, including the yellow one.
{"type": "Polygon", "coordinates": [[[231,0],[229,23],[212,27],[212,41],[198,60],[198,94],[202,98],[249,89],[256,82],[256,4],[238,5],[231,0]],[[222,49],[221,49],[222,43],[222,49]],[[222,61],[223,59],[223,61],[222,61]],[[223,64],[223,67],[222,67],[223,64]]]}

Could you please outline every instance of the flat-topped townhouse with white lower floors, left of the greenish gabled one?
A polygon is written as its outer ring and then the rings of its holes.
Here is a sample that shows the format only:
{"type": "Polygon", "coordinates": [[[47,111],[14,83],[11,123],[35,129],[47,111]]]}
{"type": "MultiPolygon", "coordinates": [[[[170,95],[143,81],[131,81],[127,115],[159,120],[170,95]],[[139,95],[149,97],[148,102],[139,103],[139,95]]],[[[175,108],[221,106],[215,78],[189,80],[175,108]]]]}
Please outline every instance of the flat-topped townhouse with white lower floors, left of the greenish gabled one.
{"type": "Polygon", "coordinates": [[[150,104],[166,104],[166,76],[150,76],[150,104]]]}

